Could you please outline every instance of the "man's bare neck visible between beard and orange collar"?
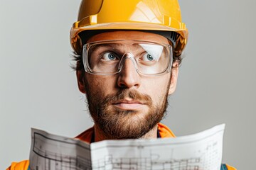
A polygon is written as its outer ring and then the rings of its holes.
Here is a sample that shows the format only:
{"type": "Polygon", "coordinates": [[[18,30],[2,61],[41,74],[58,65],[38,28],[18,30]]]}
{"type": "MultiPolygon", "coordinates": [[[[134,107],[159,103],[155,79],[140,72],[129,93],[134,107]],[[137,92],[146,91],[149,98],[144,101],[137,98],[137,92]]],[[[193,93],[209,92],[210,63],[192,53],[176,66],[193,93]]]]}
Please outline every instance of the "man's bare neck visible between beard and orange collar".
{"type": "MultiPolygon", "coordinates": [[[[157,127],[158,125],[156,125],[153,129],[151,129],[149,132],[147,132],[145,135],[143,135],[139,139],[148,139],[148,140],[156,139],[157,127]]],[[[102,140],[118,140],[113,137],[110,137],[110,135],[105,135],[105,133],[102,132],[102,130],[97,125],[95,125],[94,128],[95,128],[95,142],[100,142],[102,140]]],[[[128,139],[123,139],[123,140],[128,140],[128,139]]]]}

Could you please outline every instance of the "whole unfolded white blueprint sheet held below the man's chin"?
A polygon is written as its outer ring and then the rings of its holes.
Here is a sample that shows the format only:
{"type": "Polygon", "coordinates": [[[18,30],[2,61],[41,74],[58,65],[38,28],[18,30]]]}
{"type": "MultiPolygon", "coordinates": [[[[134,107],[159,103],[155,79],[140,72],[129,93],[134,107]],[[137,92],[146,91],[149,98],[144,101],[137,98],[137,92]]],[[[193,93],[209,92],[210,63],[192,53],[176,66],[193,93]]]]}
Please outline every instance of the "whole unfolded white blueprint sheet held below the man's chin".
{"type": "Polygon", "coordinates": [[[32,129],[31,170],[219,170],[225,125],[176,138],[87,144],[32,129]]]}

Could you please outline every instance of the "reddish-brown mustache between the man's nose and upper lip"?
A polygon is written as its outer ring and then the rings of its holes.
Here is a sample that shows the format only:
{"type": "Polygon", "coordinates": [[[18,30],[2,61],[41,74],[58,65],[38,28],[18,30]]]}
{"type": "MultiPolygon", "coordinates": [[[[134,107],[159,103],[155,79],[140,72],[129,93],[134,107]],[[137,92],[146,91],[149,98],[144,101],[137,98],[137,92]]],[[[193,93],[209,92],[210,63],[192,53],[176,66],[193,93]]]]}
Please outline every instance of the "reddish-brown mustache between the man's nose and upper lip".
{"type": "Polygon", "coordinates": [[[152,103],[152,99],[149,95],[142,94],[135,89],[119,90],[115,94],[107,95],[105,98],[105,103],[114,103],[115,101],[123,100],[124,98],[132,98],[135,101],[141,101],[146,104],[152,103]]]}

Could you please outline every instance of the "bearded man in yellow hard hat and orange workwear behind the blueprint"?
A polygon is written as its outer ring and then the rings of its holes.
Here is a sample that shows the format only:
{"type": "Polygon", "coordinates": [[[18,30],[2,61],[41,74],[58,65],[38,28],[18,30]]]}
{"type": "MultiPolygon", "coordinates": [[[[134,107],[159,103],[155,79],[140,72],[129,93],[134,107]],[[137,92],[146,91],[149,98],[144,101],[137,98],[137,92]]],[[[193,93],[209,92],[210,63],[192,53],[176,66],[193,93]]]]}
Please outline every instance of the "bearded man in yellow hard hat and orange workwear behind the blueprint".
{"type": "MultiPolygon", "coordinates": [[[[176,89],[187,38],[177,0],[83,0],[70,40],[78,88],[95,125],[77,138],[175,137],[159,122],[176,89]]],[[[13,163],[9,169],[28,165],[13,163]]]]}

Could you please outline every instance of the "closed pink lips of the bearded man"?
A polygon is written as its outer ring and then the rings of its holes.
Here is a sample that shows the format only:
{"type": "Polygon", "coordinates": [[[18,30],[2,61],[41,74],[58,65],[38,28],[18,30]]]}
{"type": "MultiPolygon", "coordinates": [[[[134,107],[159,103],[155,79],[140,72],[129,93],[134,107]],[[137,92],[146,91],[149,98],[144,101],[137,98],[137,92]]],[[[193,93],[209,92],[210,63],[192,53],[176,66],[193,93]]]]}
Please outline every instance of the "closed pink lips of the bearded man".
{"type": "Polygon", "coordinates": [[[132,99],[119,100],[113,103],[113,106],[122,110],[129,110],[129,111],[139,110],[145,105],[146,103],[142,101],[136,101],[132,99]]]}

